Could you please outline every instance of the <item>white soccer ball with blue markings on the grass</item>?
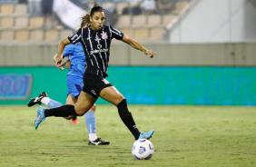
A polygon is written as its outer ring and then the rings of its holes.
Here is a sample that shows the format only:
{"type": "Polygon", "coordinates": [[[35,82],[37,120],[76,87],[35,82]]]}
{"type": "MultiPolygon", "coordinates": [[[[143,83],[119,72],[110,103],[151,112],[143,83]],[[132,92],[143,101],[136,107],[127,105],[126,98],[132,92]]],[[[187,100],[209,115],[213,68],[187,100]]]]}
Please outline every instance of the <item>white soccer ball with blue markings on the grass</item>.
{"type": "Polygon", "coordinates": [[[153,143],[146,139],[139,139],[133,143],[132,153],[137,160],[149,160],[153,156],[153,143]]]}

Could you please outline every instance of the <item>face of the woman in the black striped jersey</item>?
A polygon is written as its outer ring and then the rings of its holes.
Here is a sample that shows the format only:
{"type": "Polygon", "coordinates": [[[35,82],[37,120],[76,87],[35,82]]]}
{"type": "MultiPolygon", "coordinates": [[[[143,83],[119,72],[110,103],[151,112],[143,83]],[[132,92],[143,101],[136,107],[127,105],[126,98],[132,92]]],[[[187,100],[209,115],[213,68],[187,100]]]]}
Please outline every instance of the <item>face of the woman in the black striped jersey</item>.
{"type": "Polygon", "coordinates": [[[93,30],[101,30],[105,22],[105,15],[103,12],[95,12],[94,15],[90,17],[90,21],[93,30]]]}

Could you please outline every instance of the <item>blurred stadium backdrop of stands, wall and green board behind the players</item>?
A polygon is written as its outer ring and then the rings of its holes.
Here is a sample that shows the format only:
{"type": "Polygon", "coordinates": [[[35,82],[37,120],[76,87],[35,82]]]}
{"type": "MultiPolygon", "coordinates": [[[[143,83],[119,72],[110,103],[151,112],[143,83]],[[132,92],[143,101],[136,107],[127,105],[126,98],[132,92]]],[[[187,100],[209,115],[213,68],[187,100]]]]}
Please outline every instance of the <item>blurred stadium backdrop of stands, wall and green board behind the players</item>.
{"type": "MultiPolygon", "coordinates": [[[[157,53],[113,41],[108,80],[130,104],[256,105],[254,0],[100,0],[111,24],[157,53]]],[[[0,0],[0,104],[45,91],[65,103],[57,44],[88,0],[0,0]]],[[[97,103],[106,103],[99,100],[97,103]]]]}

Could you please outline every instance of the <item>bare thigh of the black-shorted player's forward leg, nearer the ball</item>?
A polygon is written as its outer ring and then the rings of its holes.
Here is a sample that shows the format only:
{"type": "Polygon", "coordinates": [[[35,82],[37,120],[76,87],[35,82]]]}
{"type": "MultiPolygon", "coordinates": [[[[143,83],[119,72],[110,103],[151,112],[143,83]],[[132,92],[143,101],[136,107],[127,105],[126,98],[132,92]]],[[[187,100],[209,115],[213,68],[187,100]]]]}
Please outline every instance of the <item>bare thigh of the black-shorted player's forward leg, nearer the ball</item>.
{"type": "Polygon", "coordinates": [[[113,103],[115,106],[117,106],[118,103],[121,103],[124,99],[123,94],[114,86],[104,88],[100,93],[100,97],[109,103],[113,103]]]}

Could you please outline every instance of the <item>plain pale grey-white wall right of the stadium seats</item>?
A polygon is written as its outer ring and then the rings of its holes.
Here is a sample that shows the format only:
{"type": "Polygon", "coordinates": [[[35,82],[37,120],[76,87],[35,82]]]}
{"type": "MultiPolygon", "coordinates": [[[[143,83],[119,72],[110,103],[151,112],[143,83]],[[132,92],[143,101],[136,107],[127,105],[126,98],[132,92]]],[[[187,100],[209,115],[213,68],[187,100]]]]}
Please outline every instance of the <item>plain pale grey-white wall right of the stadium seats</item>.
{"type": "Polygon", "coordinates": [[[172,22],[171,43],[255,43],[256,1],[201,0],[172,22]]]}

